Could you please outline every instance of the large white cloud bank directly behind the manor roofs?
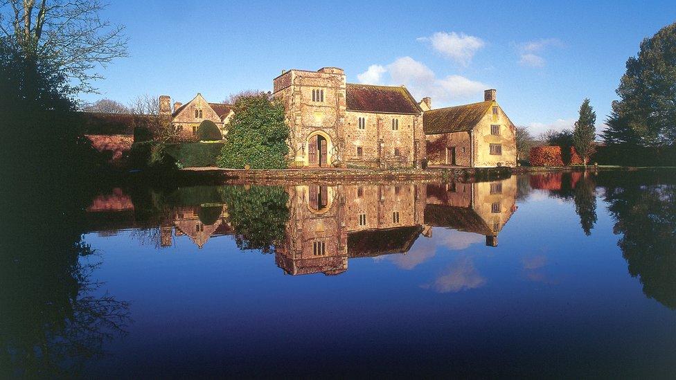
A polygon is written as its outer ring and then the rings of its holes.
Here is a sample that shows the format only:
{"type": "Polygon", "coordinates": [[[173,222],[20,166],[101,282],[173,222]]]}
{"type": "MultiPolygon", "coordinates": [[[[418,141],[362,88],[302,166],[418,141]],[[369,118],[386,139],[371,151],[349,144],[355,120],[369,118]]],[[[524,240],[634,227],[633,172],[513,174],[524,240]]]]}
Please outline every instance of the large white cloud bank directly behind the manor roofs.
{"type": "Polygon", "coordinates": [[[373,64],[364,73],[357,75],[357,79],[365,84],[403,84],[416,99],[429,96],[442,104],[459,100],[481,100],[481,91],[489,88],[482,82],[461,75],[437,78],[434,71],[411,57],[397,58],[385,66],[373,64]],[[386,76],[389,78],[385,78],[386,76]]]}

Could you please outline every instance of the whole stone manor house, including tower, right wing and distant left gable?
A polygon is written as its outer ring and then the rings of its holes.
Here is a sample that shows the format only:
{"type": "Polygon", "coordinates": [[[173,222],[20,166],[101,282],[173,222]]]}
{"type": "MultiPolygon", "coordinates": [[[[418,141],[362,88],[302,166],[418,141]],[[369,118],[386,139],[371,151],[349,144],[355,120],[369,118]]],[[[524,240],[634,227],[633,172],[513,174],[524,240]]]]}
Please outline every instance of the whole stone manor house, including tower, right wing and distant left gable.
{"type": "MultiPolygon", "coordinates": [[[[432,109],[404,86],[346,82],[342,69],[292,69],[273,80],[274,98],[285,105],[293,167],[370,168],[429,165],[495,167],[516,165],[515,127],[498,105],[495,89],[483,102],[432,109]]],[[[170,115],[184,134],[203,120],[227,133],[230,105],[207,102],[199,93],[185,105],[160,97],[160,113],[170,115]]]]}

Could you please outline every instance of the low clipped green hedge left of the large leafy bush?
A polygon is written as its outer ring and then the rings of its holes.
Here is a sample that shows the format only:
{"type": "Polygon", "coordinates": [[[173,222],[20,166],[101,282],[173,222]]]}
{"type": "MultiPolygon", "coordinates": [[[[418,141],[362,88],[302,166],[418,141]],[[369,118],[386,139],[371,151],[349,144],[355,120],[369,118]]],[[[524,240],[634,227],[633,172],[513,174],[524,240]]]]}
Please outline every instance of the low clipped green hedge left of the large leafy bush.
{"type": "Polygon", "coordinates": [[[215,166],[223,143],[134,143],[130,163],[136,169],[215,166]]]}

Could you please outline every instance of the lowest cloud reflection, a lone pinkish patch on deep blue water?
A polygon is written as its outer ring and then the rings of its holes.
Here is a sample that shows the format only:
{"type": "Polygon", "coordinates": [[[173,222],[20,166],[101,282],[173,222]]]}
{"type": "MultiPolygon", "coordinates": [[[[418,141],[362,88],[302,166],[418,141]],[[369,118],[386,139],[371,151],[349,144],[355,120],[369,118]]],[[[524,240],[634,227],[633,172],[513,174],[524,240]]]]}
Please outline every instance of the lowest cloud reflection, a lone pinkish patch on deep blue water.
{"type": "Polygon", "coordinates": [[[422,285],[439,293],[457,293],[463,290],[477,289],[486,284],[469,256],[461,256],[445,269],[432,284],[422,285]]]}

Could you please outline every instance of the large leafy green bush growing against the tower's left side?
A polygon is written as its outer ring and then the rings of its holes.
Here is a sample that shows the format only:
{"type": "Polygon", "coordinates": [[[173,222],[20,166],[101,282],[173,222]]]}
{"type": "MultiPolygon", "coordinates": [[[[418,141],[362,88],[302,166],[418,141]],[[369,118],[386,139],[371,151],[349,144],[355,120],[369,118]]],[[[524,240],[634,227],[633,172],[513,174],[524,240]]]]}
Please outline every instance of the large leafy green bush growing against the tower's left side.
{"type": "Polygon", "coordinates": [[[266,94],[243,96],[234,105],[225,145],[217,164],[221,168],[283,169],[287,167],[289,127],[284,105],[266,94]]]}

